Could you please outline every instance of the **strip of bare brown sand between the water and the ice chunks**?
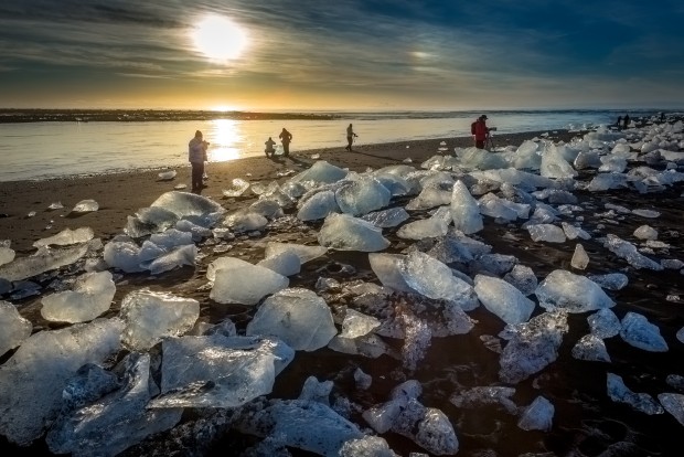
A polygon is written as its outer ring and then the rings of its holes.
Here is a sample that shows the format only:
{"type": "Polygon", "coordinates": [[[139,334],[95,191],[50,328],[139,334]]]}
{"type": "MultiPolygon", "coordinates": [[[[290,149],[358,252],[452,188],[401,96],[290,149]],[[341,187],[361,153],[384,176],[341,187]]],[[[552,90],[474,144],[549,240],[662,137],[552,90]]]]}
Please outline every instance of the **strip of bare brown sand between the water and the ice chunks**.
{"type": "MultiPolygon", "coordinates": [[[[555,130],[549,139],[569,141],[577,131],[555,130]]],[[[527,131],[495,136],[496,146],[520,146],[524,140],[539,137],[546,131],[527,131]]],[[[289,158],[266,157],[243,158],[226,162],[210,162],[206,171],[210,176],[209,187],[202,191],[222,203],[228,212],[244,204],[248,198],[227,199],[223,189],[227,189],[235,178],[244,180],[266,181],[285,180],[282,173],[293,174],[309,168],[320,155],[319,160],[325,160],[336,167],[349,168],[352,171],[365,171],[368,167],[381,168],[402,163],[410,158],[413,164],[419,163],[435,155],[452,155],[453,148],[472,146],[471,137],[436,138],[429,140],[413,140],[385,142],[377,145],[362,145],[354,152],[348,152],[343,146],[335,148],[293,150],[289,158]],[[443,151],[442,141],[446,144],[443,151]],[[280,173],[280,176],[279,176],[280,173]]],[[[177,184],[190,185],[190,167],[174,167],[169,169],[146,169],[122,171],[105,174],[75,176],[31,181],[0,182],[0,240],[10,240],[11,247],[19,255],[28,255],[35,251],[33,243],[40,238],[52,236],[64,228],[89,226],[96,237],[107,241],[122,233],[127,216],[133,215],[140,208],[149,206],[162,193],[174,190],[177,184]],[[173,180],[159,179],[160,171],[175,170],[173,180]],[[76,203],[82,200],[95,200],[99,210],[85,214],[70,214],[76,203]],[[52,203],[61,203],[64,208],[50,210],[52,203]],[[35,215],[29,216],[35,212],[35,215]]],[[[185,189],[189,191],[189,189],[185,189]]],[[[252,194],[256,200],[256,195],[252,194]]]]}

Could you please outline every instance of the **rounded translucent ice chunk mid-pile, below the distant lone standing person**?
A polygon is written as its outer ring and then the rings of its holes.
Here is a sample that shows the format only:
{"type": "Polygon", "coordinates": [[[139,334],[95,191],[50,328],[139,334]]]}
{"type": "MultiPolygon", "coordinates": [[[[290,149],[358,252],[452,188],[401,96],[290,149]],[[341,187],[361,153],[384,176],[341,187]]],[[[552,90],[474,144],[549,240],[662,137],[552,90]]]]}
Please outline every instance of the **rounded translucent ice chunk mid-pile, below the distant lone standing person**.
{"type": "Polygon", "coordinates": [[[354,216],[387,206],[391,198],[387,188],[370,177],[348,181],[335,191],[335,200],[342,212],[354,216]]]}

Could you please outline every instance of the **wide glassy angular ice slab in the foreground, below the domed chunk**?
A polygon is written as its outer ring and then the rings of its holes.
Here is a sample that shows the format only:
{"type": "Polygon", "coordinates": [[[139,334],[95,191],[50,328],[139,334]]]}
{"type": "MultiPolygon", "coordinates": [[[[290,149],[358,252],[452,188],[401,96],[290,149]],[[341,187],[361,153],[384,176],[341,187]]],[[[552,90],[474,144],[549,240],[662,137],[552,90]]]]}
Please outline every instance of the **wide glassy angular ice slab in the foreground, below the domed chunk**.
{"type": "Polygon", "coordinates": [[[151,407],[237,407],[269,394],[295,352],[276,339],[214,333],[165,339],[162,357],[151,407]]]}

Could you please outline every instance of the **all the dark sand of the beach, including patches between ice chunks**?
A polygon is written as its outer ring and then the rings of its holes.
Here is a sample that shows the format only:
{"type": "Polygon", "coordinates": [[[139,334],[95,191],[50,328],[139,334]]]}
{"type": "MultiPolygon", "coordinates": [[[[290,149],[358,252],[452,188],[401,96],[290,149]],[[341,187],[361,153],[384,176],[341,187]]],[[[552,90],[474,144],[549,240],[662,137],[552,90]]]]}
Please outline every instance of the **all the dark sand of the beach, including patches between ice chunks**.
{"type": "MultiPolygon", "coordinates": [[[[519,146],[525,139],[538,137],[544,132],[525,132],[496,136],[496,146],[519,146]]],[[[556,131],[549,135],[554,141],[570,141],[578,132],[556,131]]],[[[246,206],[257,195],[246,192],[241,198],[225,198],[223,189],[229,187],[235,178],[252,183],[269,183],[274,180],[285,181],[293,173],[308,169],[320,156],[341,168],[363,172],[366,169],[404,163],[412,159],[417,169],[426,159],[441,153],[451,153],[455,147],[470,147],[470,138],[438,138],[434,140],[405,141],[383,145],[360,145],[356,151],[346,152],[343,146],[333,149],[292,151],[289,158],[269,160],[267,158],[241,159],[233,162],[209,163],[209,187],[202,191],[221,203],[228,212],[246,206]],[[445,146],[446,145],[446,146],[445,146]],[[447,148],[446,151],[439,151],[447,148]]],[[[170,181],[159,179],[160,170],[139,170],[128,173],[88,176],[55,179],[46,181],[0,182],[0,240],[11,240],[11,247],[17,256],[32,254],[32,244],[62,230],[89,226],[95,236],[107,242],[121,234],[127,216],[133,215],[140,208],[149,206],[162,193],[171,191],[179,183],[190,185],[190,168],[177,169],[178,176],[170,181]],[[71,209],[79,201],[93,199],[98,202],[96,212],[74,215],[71,209]],[[49,210],[52,203],[61,202],[60,210],[49,210]],[[29,213],[35,215],[29,216],[29,213]]],[[[681,167],[680,167],[681,171],[681,167]]],[[[578,180],[590,179],[592,171],[583,171],[578,180]]],[[[314,375],[319,381],[334,382],[333,395],[348,397],[353,403],[367,408],[386,402],[388,392],[398,383],[416,379],[424,385],[423,404],[440,408],[453,425],[460,442],[459,455],[463,456],[516,456],[566,455],[566,456],[676,456],[681,455],[678,434],[682,425],[670,414],[645,415],[635,412],[626,404],[612,402],[606,393],[606,373],[612,372],[623,376],[624,382],[635,392],[646,392],[656,396],[662,392],[673,392],[665,383],[669,374],[684,375],[682,359],[684,344],[677,341],[675,333],[684,326],[684,305],[673,297],[684,297],[684,277],[677,269],[653,272],[630,267],[624,259],[610,253],[597,240],[612,233],[623,240],[635,242],[632,233],[637,227],[649,224],[659,232],[659,241],[669,245],[656,249],[653,257],[684,261],[684,238],[682,221],[684,220],[684,187],[676,183],[662,192],[640,194],[633,190],[611,190],[605,192],[576,191],[579,205],[585,209],[583,227],[592,235],[583,241],[590,257],[585,272],[578,274],[624,273],[629,285],[618,291],[609,291],[617,302],[613,311],[618,317],[628,311],[643,313],[661,330],[670,350],[654,353],[630,347],[619,337],[606,340],[612,363],[587,362],[570,355],[575,342],[588,332],[587,313],[570,315],[569,332],[559,349],[558,360],[532,379],[515,385],[513,396],[519,406],[528,405],[537,395],[544,395],[555,406],[554,425],[551,432],[525,432],[516,426],[517,418],[511,416],[500,406],[480,406],[477,410],[457,408],[448,400],[457,386],[502,385],[498,379],[499,354],[483,344],[481,336],[496,336],[504,327],[503,322],[479,307],[469,316],[478,321],[467,334],[432,338],[427,357],[413,373],[402,368],[400,360],[383,355],[368,359],[334,352],[328,348],[314,352],[298,352],[295,361],[276,379],[276,386],[270,395],[274,398],[296,398],[304,380],[314,375]],[[606,203],[628,209],[655,210],[659,217],[645,219],[634,214],[623,217],[610,217],[606,213],[606,203]],[[669,298],[670,297],[670,298],[669,298]],[[373,376],[373,384],[367,391],[354,387],[353,372],[361,368],[373,376]],[[533,382],[534,381],[534,382],[533,382]]],[[[393,205],[405,205],[410,199],[393,200],[393,205]]],[[[427,211],[412,212],[410,220],[427,216],[427,211]]],[[[197,261],[195,267],[183,267],[150,277],[149,274],[126,274],[117,284],[117,293],[110,311],[105,317],[116,316],[120,300],[131,290],[149,287],[152,290],[169,291],[183,297],[195,298],[201,304],[200,320],[215,323],[229,317],[237,326],[238,332],[254,315],[254,308],[239,305],[218,305],[209,298],[206,286],[206,267],[222,255],[239,257],[250,263],[264,258],[267,242],[299,243],[317,245],[317,233],[322,221],[313,223],[292,223],[290,226],[277,225],[261,233],[260,236],[238,236],[231,242],[227,253],[214,253],[211,244],[199,243],[200,252],[206,254],[197,261]],[[125,279],[125,280],[121,280],[125,279]]],[[[521,224],[498,224],[485,217],[484,230],[473,237],[493,246],[492,252],[513,255],[523,265],[531,267],[537,279],[542,280],[549,272],[558,268],[573,270],[570,259],[576,241],[565,243],[533,242],[521,224]]],[[[389,253],[402,253],[410,244],[396,236],[397,227],[383,234],[392,242],[389,253]]],[[[468,272],[466,272],[468,273],[468,272]]],[[[367,254],[330,251],[327,255],[302,266],[299,275],[290,278],[290,287],[306,287],[314,290],[319,277],[331,277],[341,283],[352,279],[375,281],[370,267],[367,254]],[[341,268],[351,265],[353,268],[341,268]]],[[[33,322],[33,331],[56,329],[63,326],[49,322],[41,317],[40,296],[13,301],[21,315],[33,322]]],[[[348,298],[330,294],[325,296],[334,310],[348,304],[348,298]]],[[[9,299],[3,297],[3,299],[9,299]]],[[[542,310],[536,308],[535,313],[542,310]]],[[[534,316],[533,315],[533,316],[534,316]]],[[[400,341],[389,341],[400,349],[400,341]]],[[[10,351],[11,352],[11,351],[10,351]]],[[[10,353],[0,359],[4,362],[10,353]]],[[[196,418],[196,417],[194,417],[196,418]]],[[[184,421],[192,421],[186,414],[184,421]]],[[[351,421],[367,427],[356,411],[351,421]]],[[[392,449],[402,455],[425,453],[415,443],[397,434],[387,433],[383,437],[392,449]]],[[[254,446],[259,438],[226,431],[209,443],[196,443],[194,453],[182,449],[173,442],[169,433],[149,438],[146,443],[125,451],[128,456],[141,455],[211,455],[239,456],[254,446]],[[174,447],[178,446],[178,447],[174,447]],[[178,453],[178,454],[175,454],[178,453]]],[[[192,446],[192,444],[186,444],[192,446]]],[[[18,448],[0,437],[3,455],[17,455],[28,451],[18,448]],[[10,454],[7,454],[7,453],[10,454]]],[[[44,443],[32,446],[42,455],[49,455],[44,443]]],[[[298,449],[290,449],[292,455],[311,455],[298,449]]]]}

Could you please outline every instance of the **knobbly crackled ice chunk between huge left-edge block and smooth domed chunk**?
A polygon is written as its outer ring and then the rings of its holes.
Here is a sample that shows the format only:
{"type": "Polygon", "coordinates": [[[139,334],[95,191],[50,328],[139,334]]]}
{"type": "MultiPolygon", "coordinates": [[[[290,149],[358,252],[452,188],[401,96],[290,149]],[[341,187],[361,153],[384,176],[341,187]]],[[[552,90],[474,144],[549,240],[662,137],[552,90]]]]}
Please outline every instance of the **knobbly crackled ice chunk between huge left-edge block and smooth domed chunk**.
{"type": "Polygon", "coordinates": [[[126,322],[124,343],[131,350],[146,351],[165,337],[190,331],[200,317],[200,302],[140,289],[121,299],[119,316],[126,322]]]}

